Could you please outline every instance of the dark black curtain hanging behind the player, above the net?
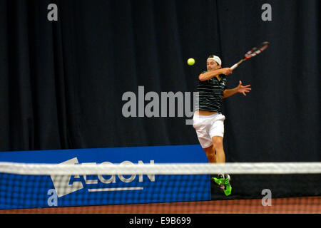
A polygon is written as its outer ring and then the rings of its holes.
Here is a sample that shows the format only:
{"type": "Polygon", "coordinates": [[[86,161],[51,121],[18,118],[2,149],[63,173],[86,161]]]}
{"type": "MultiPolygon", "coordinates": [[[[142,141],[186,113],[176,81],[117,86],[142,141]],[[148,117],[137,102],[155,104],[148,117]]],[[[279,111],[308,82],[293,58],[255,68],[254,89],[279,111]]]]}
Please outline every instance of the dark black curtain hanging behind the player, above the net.
{"type": "Polygon", "coordinates": [[[270,41],[228,76],[228,88],[252,91],[224,100],[227,161],[320,161],[319,9],[317,0],[1,0],[0,150],[197,144],[185,117],[123,117],[123,93],[193,92],[208,55],[230,67],[270,41]],[[47,20],[51,3],[58,21],[47,20]],[[265,3],[272,21],[261,19],[265,3]]]}

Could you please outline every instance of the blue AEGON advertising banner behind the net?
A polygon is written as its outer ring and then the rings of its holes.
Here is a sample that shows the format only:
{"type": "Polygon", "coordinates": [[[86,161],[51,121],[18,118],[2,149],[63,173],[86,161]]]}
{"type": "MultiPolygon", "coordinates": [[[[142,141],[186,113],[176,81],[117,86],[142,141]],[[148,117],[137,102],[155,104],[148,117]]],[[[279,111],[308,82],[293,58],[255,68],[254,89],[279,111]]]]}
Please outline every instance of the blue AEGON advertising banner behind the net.
{"type": "MultiPolygon", "coordinates": [[[[0,152],[0,161],[75,165],[208,162],[200,145],[0,152]]],[[[0,176],[0,209],[210,200],[208,175],[0,176]]]]}

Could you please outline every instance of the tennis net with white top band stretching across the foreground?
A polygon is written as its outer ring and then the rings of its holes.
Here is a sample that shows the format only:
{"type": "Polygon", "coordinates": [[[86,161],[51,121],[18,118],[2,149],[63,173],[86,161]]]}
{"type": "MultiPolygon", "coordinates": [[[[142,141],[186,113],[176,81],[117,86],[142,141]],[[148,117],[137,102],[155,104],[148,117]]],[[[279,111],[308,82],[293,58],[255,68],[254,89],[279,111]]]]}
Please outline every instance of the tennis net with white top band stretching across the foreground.
{"type": "Polygon", "coordinates": [[[320,213],[321,162],[0,162],[0,213],[320,213]],[[213,182],[230,175],[228,196],[213,182]]]}

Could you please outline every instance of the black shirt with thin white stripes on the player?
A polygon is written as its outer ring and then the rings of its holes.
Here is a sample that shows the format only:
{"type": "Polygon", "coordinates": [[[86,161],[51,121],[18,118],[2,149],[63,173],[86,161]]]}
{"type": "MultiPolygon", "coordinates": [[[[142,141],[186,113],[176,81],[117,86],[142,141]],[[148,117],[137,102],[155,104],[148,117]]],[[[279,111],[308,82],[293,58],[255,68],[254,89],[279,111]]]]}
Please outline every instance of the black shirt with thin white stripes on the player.
{"type": "Polygon", "coordinates": [[[199,81],[197,87],[198,95],[196,96],[198,104],[195,105],[195,110],[220,113],[223,91],[227,88],[227,80],[225,75],[220,75],[219,77],[220,81],[216,77],[210,78],[208,81],[199,81]]]}

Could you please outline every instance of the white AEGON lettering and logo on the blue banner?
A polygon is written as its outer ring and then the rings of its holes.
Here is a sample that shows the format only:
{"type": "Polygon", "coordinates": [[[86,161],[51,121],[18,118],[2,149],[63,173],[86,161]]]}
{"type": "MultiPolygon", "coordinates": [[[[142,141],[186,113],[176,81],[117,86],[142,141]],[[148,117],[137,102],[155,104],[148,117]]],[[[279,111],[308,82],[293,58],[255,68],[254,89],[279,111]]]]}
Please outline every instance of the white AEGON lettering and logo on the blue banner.
{"type": "MultiPolygon", "coordinates": [[[[151,164],[154,164],[154,161],[150,161],[151,164]]],[[[62,162],[58,165],[63,164],[73,164],[78,165],[80,164],[78,162],[77,157],[72,158],[71,160],[67,160],[66,162],[62,162]]],[[[86,162],[81,164],[93,164],[96,165],[96,162],[86,162]]],[[[101,164],[112,164],[111,162],[102,162],[101,164]]],[[[123,161],[121,162],[121,165],[133,165],[133,162],[130,161],[123,161]]],[[[138,164],[143,164],[143,162],[140,160],[138,161],[138,164]]],[[[93,175],[91,175],[92,177],[93,175]]],[[[111,184],[116,183],[117,181],[121,181],[124,183],[130,183],[136,180],[136,175],[131,175],[130,177],[127,177],[128,175],[109,175],[108,178],[106,178],[106,175],[97,175],[93,179],[89,178],[86,175],[51,175],[51,180],[54,184],[54,188],[56,190],[56,195],[58,197],[63,197],[64,195],[68,195],[72,192],[76,192],[78,190],[82,190],[83,188],[86,188],[88,192],[107,192],[107,191],[126,191],[126,190],[143,190],[143,187],[95,187],[98,184],[111,184]],[[85,184],[85,186],[84,186],[85,184]]],[[[147,175],[148,179],[151,182],[155,182],[155,175],[147,175]]],[[[138,175],[138,182],[143,182],[143,175],[138,175]]],[[[104,186],[106,186],[104,185],[104,186]]],[[[100,185],[101,186],[101,185],[100,185]]]]}

